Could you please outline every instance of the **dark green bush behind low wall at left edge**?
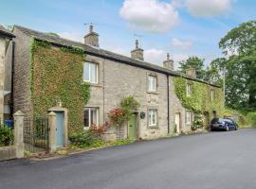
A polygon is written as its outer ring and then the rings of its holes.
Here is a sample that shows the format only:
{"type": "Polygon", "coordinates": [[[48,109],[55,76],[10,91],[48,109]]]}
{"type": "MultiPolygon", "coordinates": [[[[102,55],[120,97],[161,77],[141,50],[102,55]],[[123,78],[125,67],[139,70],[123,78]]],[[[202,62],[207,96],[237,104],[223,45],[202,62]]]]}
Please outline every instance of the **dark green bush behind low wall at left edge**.
{"type": "Polygon", "coordinates": [[[14,135],[11,129],[6,126],[0,126],[0,146],[10,146],[14,141],[14,135]]]}

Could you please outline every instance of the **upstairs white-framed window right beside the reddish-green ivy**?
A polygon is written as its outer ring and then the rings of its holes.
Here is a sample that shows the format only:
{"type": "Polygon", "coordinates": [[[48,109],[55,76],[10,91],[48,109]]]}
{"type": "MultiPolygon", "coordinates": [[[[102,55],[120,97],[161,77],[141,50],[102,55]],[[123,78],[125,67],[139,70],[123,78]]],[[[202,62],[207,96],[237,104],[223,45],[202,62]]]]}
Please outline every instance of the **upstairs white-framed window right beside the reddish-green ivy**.
{"type": "Polygon", "coordinates": [[[98,83],[98,63],[89,61],[83,63],[83,81],[98,83]]]}

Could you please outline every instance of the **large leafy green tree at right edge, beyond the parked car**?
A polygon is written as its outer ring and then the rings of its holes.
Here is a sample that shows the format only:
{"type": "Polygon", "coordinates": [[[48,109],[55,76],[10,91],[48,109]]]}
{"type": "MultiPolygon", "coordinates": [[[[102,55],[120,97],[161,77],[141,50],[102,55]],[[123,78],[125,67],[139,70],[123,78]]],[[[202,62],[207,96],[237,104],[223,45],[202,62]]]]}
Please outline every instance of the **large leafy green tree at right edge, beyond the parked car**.
{"type": "Polygon", "coordinates": [[[226,103],[229,108],[256,109],[256,21],[249,21],[231,29],[221,39],[219,47],[228,60],[219,58],[210,63],[211,77],[218,84],[226,73],[226,103]]]}

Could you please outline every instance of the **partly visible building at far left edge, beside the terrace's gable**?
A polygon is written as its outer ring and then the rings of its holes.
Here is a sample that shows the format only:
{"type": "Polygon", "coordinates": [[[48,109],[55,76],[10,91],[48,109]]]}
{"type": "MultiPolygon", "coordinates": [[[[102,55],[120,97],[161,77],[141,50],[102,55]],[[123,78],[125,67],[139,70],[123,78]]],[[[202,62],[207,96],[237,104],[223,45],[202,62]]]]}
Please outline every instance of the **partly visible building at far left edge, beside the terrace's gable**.
{"type": "Polygon", "coordinates": [[[11,75],[12,75],[12,56],[13,43],[12,39],[15,36],[11,31],[0,26],[0,120],[10,118],[12,114],[11,103],[11,75]]]}

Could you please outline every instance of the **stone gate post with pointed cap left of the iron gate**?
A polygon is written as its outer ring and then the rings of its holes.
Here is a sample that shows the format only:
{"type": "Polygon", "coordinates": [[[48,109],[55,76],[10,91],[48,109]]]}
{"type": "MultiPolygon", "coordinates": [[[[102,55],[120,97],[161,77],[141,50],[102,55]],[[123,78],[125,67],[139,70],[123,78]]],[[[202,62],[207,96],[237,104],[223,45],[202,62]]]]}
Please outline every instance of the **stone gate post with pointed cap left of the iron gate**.
{"type": "Polygon", "coordinates": [[[25,114],[21,111],[15,112],[14,117],[14,145],[16,146],[16,157],[24,157],[24,116],[25,114]]]}

